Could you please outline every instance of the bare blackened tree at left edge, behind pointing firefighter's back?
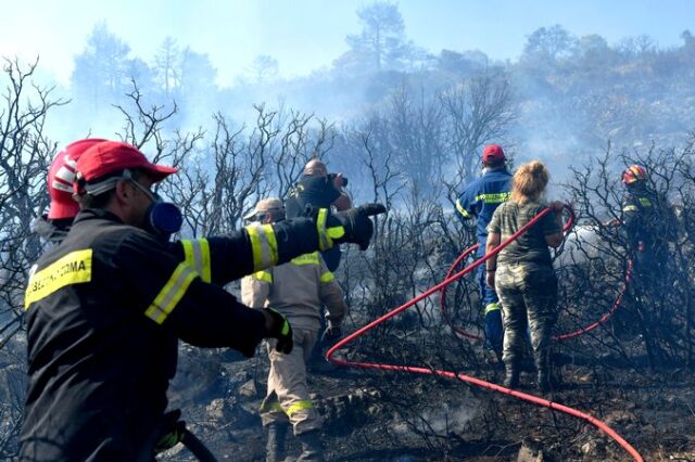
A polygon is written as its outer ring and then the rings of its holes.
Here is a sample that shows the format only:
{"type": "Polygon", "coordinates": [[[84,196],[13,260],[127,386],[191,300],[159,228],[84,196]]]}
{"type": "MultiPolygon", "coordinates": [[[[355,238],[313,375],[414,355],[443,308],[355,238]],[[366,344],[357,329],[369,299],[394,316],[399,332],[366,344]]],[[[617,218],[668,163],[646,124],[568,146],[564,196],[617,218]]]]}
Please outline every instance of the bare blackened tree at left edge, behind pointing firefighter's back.
{"type": "Polygon", "coordinates": [[[37,63],[23,66],[4,60],[4,86],[0,110],[0,381],[2,406],[0,455],[14,453],[24,400],[21,345],[15,335],[23,328],[24,290],[31,264],[42,244],[31,232],[31,222],[48,205],[46,175],[55,143],[45,134],[49,112],[65,102],[52,97],[52,88],[34,84],[37,63]]]}

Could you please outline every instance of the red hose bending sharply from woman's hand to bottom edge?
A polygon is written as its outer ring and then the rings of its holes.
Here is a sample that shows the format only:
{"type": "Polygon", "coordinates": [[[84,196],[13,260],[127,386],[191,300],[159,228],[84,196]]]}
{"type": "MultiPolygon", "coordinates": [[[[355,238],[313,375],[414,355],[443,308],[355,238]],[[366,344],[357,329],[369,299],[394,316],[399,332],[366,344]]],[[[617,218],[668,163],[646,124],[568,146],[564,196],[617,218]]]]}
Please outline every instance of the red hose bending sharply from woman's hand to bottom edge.
{"type": "MultiPolygon", "coordinates": [[[[570,220],[568,220],[568,224],[566,224],[565,228],[568,228],[568,226],[571,226],[571,221],[573,219],[573,214],[571,213],[571,209],[569,209],[569,207],[567,207],[567,208],[568,208],[568,210],[570,210],[570,220]]],[[[453,277],[446,278],[444,281],[440,282],[439,284],[434,285],[433,287],[429,288],[428,291],[421,293],[420,295],[418,295],[417,297],[415,297],[412,300],[407,301],[406,304],[404,304],[404,305],[402,305],[402,306],[389,311],[388,313],[386,313],[382,317],[376,319],[375,321],[371,321],[369,324],[365,325],[364,328],[361,328],[357,331],[353,332],[352,334],[348,335],[345,338],[343,338],[340,342],[338,342],[333,347],[331,347],[328,350],[328,352],[326,354],[326,359],[329,360],[330,362],[332,362],[333,364],[337,364],[337,365],[345,365],[345,367],[353,367],[353,368],[361,368],[361,369],[378,369],[378,370],[383,370],[383,371],[412,372],[412,373],[439,375],[439,376],[443,376],[443,377],[457,378],[457,380],[470,383],[472,385],[480,386],[482,388],[492,389],[493,392],[502,393],[502,394],[505,394],[505,395],[508,395],[508,396],[513,396],[515,398],[518,398],[518,399],[521,399],[521,400],[525,400],[525,401],[528,401],[528,402],[532,402],[532,403],[538,405],[538,406],[543,406],[543,407],[546,407],[546,408],[549,408],[549,409],[554,409],[554,410],[557,410],[557,411],[560,411],[560,412],[565,412],[566,414],[582,419],[582,420],[591,423],[592,425],[596,426],[598,429],[601,429],[606,435],[611,437],[615,441],[617,441],[626,451],[628,451],[630,453],[630,455],[632,455],[632,458],[635,461],[643,462],[642,455],[640,455],[640,453],[627,440],[624,440],[620,435],[618,435],[618,433],[616,433],[612,428],[610,428],[608,425],[606,425],[605,423],[601,422],[596,418],[593,418],[592,415],[589,415],[589,414],[586,414],[584,412],[581,412],[581,411],[579,411],[577,409],[572,409],[572,408],[569,408],[567,406],[563,406],[563,405],[559,405],[557,402],[553,402],[553,401],[546,400],[546,399],[538,398],[535,396],[528,395],[526,393],[516,392],[516,390],[513,390],[513,389],[509,389],[509,388],[505,388],[503,386],[495,385],[495,384],[492,384],[490,382],[482,381],[480,378],[471,377],[471,376],[466,375],[464,373],[455,373],[455,372],[450,372],[450,371],[441,371],[441,370],[435,370],[435,369],[434,370],[433,369],[425,369],[425,368],[417,368],[417,367],[410,367],[410,365],[396,365],[396,364],[380,364],[380,363],[375,363],[375,362],[345,361],[345,360],[342,360],[342,359],[333,358],[333,355],[336,354],[336,351],[338,351],[339,349],[341,349],[342,347],[344,347],[349,343],[351,343],[354,339],[361,337],[362,335],[364,335],[365,333],[369,332],[370,330],[372,330],[377,325],[381,324],[382,322],[386,322],[387,320],[395,317],[400,312],[405,311],[406,309],[408,309],[412,306],[416,305],[418,301],[420,301],[420,300],[429,297],[430,295],[441,291],[443,287],[445,287],[446,285],[448,285],[452,282],[456,281],[458,278],[469,273],[470,271],[476,269],[478,266],[482,265],[482,262],[484,262],[488,259],[490,259],[490,257],[498,254],[500,251],[502,251],[504,247],[509,245],[515,239],[517,239],[519,235],[521,235],[523,232],[526,232],[529,228],[531,228],[538,220],[540,220],[543,216],[545,216],[547,213],[549,213],[549,210],[551,210],[549,208],[546,208],[543,211],[541,211],[531,221],[529,221],[526,226],[523,226],[516,233],[514,233],[509,239],[507,239],[506,241],[502,242],[497,247],[495,247],[494,251],[490,252],[489,254],[485,254],[482,258],[480,258],[479,260],[476,260],[473,264],[471,264],[468,267],[464,268],[463,270],[460,270],[459,272],[457,272],[453,277]]]]}

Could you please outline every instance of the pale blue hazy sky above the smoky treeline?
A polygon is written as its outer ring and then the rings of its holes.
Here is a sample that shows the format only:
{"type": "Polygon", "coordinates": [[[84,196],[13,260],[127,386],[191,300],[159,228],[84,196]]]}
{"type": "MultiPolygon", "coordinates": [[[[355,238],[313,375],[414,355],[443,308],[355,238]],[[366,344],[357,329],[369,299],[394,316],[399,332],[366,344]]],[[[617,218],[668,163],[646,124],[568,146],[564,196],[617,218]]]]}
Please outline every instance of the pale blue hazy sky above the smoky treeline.
{"type": "MultiPolygon", "coordinates": [[[[0,54],[40,56],[42,73],[67,82],[73,57],[96,23],[152,61],[166,36],[208,53],[220,85],[249,69],[258,54],[279,62],[285,77],[328,66],[359,30],[355,11],[368,0],[2,0],[0,54]]],[[[406,35],[438,53],[481,50],[518,57],[529,34],[560,24],[571,34],[598,34],[609,43],[646,34],[661,47],[695,33],[694,0],[401,0],[406,35]]]]}

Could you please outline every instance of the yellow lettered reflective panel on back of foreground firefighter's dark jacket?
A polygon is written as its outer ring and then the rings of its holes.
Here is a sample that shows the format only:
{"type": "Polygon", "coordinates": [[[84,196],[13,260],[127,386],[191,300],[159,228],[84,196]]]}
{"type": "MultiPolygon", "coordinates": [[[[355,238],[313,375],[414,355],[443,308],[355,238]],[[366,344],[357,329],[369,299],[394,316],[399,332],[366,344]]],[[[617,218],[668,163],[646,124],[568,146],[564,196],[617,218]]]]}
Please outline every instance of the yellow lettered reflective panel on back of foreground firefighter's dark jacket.
{"type": "Polygon", "coordinates": [[[71,252],[29,275],[24,294],[24,309],[66,285],[91,281],[91,248],[71,252]]]}

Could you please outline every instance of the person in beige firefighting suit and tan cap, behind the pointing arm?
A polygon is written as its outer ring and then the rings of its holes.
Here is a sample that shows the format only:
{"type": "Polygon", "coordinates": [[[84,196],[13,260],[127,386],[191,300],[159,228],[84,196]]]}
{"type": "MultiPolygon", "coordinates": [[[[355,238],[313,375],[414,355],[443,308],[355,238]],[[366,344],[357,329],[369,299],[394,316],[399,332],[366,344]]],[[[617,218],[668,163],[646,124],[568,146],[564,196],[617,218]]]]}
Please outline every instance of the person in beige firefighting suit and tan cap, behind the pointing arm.
{"type": "MultiPolygon", "coordinates": [[[[252,216],[247,218],[262,223],[282,221],[285,207],[278,198],[266,198],[258,202],[252,216]]],[[[302,445],[298,460],[324,460],[321,418],[309,398],[306,361],[318,337],[321,306],[328,310],[324,337],[334,341],[341,336],[341,323],[348,310],[342,290],[320,254],[313,252],[244,278],[241,297],[250,307],[277,309],[290,321],[294,335],[290,354],[275,350],[275,341],[268,341],[270,371],[266,398],[261,406],[261,419],[268,437],[266,462],[283,460],[288,424],[302,445]]]]}

